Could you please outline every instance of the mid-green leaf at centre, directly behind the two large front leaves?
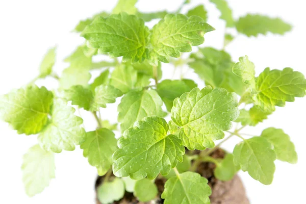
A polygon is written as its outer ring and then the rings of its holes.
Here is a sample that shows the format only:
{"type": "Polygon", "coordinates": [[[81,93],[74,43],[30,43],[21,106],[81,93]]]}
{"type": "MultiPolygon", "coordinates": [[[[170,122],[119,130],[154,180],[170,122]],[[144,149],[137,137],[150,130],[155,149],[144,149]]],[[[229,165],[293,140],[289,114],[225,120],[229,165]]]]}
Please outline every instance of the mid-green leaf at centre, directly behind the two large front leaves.
{"type": "Polygon", "coordinates": [[[162,105],[163,101],[155,90],[131,91],[125,94],[118,105],[121,132],[144,117],[153,115],[161,117],[162,105]]]}

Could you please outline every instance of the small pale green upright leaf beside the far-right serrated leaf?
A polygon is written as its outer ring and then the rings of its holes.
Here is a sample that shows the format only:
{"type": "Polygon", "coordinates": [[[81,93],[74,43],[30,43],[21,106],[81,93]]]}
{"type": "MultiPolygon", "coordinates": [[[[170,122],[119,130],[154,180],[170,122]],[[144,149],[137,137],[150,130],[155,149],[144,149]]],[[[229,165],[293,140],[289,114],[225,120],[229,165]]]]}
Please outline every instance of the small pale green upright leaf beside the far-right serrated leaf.
{"type": "Polygon", "coordinates": [[[233,72],[242,78],[244,84],[249,85],[252,93],[256,93],[255,65],[247,56],[239,58],[239,62],[233,66],[233,72]]]}

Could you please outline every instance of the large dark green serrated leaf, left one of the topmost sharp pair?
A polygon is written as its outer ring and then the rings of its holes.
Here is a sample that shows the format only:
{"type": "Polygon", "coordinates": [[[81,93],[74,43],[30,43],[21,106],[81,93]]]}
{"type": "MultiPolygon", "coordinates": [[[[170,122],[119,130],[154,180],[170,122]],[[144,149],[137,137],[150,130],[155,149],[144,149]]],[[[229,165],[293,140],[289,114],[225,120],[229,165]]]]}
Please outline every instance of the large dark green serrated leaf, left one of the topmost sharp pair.
{"type": "Polygon", "coordinates": [[[124,62],[142,62],[146,58],[148,35],[144,21],[126,13],[97,17],[82,32],[91,47],[112,57],[123,56],[124,62]]]}

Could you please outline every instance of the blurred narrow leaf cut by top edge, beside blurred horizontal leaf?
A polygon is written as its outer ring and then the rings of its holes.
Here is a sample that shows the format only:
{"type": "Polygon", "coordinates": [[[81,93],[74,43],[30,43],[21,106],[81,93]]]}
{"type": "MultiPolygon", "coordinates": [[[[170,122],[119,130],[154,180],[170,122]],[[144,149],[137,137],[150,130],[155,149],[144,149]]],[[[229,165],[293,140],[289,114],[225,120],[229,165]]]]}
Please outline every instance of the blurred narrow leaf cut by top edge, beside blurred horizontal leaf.
{"type": "Polygon", "coordinates": [[[235,20],[232,15],[232,9],[228,7],[226,0],[210,0],[210,2],[215,4],[221,12],[220,18],[225,20],[226,27],[234,27],[235,20]]]}

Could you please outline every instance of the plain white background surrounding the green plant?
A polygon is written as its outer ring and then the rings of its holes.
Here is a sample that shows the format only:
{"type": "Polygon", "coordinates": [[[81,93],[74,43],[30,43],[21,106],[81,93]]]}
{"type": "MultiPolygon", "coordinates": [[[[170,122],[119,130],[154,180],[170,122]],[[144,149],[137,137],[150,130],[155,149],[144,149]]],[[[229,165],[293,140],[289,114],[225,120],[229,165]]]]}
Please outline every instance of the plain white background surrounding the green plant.
{"type": "MultiPolygon", "coordinates": [[[[174,11],[181,0],[139,0],[141,11],[168,9],[174,11]]],[[[218,20],[219,12],[207,0],[192,1],[193,5],[205,3],[209,12],[209,23],[216,31],[205,35],[207,46],[221,48],[224,21],[218,20]]],[[[58,61],[55,70],[60,74],[67,67],[62,60],[83,43],[83,39],[71,33],[79,20],[102,10],[110,11],[116,1],[103,0],[2,0],[0,1],[0,94],[27,84],[38,74],[38,67],[49,47],[58,45],[58,61]]],[[[234,61],[248,55],[260,73],[265,67],[283,69],[292,67],[306,74],[305,70],[305,11],[304,1],[291,0],[236,0],[230,1],[235,18],[246,13],[261,13],[282,17],[293,25],[293,31],[285,36],[259,36],[247,38],[239,35],[226,48],[234,61]]],[[[164,64],[164,78],[170,78],[172,67],[164,64]],[[166,69],[166,70],[165,70],[166,69]]],[[[185,77],[192,78],[192,71],[185,77]]],[[[53,79],[38,81],[38,85],[56,87],[53,79]]],[[[203,85],[200,84],[202,87],[203,85]]],[[[200,87],[200,88],[201,88],[200,87]]],[[[306,98],[296,98],[285,108],[277,108],[269,119],[244,133],[259,135],[269,126],[282,128],[296,145],[299,161],[291,165],[276,161],[273,184],[264,186],[254,181],[247,173],[240,173],[253,204],[258,203],[306,203],[306,98]]],[[[102,111],[104,118],[116,121],[116,105],[102,111]]],[[[95,121],[90,114],[82,112],[86,129],[93,130],[95,121]]],[[[29,198],[21,182],[20,165],[22,155],[36,144],[36,136],[17,135],[8,124],[0,122],[0,203],[94,203],[94,181],[96,171],[83,158],[82,151],[64,151],[56,155],[56,179],[43,193],[29,198]]],[[[239,139],[232,139],[224,147],[233,150],[239,139]]]]}

